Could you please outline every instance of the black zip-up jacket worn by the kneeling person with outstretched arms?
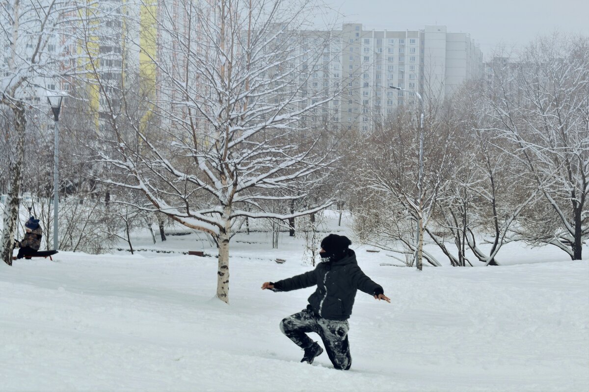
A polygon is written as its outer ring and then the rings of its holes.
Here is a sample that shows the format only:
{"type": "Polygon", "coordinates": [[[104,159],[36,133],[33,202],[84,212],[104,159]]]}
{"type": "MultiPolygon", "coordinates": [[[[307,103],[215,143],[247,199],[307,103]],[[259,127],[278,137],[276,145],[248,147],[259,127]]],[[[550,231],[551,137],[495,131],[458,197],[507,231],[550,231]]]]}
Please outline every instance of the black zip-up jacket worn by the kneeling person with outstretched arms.
{"type": "Polygon", "coordinates": [[[309,297],[309,307],[329,320],[346,320],[352,314],[356,290],[375,295],[382,294],[379,284],[362,272],[356,262],[356,253],[348,249],[342,259],[319,263],[314,270],[274,282],[274,291],[289,292],[317,285],[309,297]]]}

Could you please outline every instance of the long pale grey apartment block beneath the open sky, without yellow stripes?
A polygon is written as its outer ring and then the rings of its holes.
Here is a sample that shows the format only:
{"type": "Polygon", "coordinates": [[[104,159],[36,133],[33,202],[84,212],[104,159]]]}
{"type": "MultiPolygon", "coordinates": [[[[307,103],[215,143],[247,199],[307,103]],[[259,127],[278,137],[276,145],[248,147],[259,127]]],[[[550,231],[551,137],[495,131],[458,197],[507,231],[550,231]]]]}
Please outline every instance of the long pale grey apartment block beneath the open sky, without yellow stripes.
{"type": "Polygon", "coordinates": [[[368,130],[400,105],[418,105],[416,93],[444,100],[464,81],[483,75],[479,46],[468,33],[449,33],[446,26],[376,31],[343,24],[331,34],[343,48],[341,72],[334,69],[333,78],[341,78],[345,89],[330,106],[337,114],[333,119],[349,127],[368,130]]]}

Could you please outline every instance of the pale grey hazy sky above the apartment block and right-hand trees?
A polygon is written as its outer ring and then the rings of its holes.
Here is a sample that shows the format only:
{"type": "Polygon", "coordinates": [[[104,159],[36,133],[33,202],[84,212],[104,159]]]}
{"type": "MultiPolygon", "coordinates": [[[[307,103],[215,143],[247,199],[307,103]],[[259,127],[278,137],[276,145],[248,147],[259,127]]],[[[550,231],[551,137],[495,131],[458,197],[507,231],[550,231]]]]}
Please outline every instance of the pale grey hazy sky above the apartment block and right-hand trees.
{"type": "Polygon", "coordinates": [[[468,32],[485,58],[508,46],[554,31],[589,35],[589,0],[326,0],[346,22],[368,29],[416,30],[446,25],[468,32]]]}

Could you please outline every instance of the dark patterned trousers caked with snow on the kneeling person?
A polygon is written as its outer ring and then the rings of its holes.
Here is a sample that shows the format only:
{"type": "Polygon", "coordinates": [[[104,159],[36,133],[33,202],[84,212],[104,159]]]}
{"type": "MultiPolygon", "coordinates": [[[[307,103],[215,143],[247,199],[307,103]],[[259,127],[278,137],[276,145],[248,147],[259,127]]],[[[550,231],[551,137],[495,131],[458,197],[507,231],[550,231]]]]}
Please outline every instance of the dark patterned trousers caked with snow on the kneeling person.
{"type": "Polygon", "coordinates": [[[348,343],[348,320],[327,320],[317,316],[313,311],[305,309],[294,313],[280,321],[280,330],[294,341],[301,349],[306,349],[313,344],[313,340],[307,336],[309,332],[317,333],[323,340],[323,346],[327,356],[333,363],[333,367],[340,370],[348,370],[352,366],[350,345],[348,343]]]}

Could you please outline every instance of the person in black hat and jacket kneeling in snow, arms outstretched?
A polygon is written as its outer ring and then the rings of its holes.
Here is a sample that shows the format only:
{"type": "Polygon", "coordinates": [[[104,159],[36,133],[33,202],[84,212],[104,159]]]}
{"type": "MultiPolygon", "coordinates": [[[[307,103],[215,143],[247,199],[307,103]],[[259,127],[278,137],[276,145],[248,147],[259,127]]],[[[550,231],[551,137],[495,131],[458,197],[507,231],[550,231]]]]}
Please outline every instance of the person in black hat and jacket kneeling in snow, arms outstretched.
{"type": "Polygon", "coordinates": [[[333,367],[348,370],[352,366],[348,343],[348,318],[356,290],[374,296],[377,300],[391,300],[382,287],[366,276],[356,262],[356,254],[348,247],[352,242],[345,236],[329,234],[321,242],[319,254],[322,262],[315,270],[279,280],[264,282],[262,290],[289,292],[317,285],[309,297],[307,308],[280,321],[280,330],[297,346],[305,350],[301,362],[313,363],[323,349],[307,333],[315,332],[323,340],[327,356],[333,367]]]}

